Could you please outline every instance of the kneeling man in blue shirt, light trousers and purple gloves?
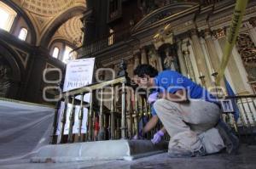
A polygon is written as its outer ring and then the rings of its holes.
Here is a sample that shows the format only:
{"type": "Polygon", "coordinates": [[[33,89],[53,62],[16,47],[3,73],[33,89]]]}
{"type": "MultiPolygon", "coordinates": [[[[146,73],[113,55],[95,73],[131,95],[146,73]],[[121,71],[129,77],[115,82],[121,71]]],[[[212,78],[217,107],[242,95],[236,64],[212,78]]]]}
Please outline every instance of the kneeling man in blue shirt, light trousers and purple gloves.
{"type": "MultiPolygon", "coordinates": [[[[224,139],[215,128],[221,114],[220,105],[205,88],[177,71],[158,73],[151,65],[138,65],[134,75],[139,87],[154,90],[149,95],[156,112],[154,124],[159,118],[165,128],[154,135],[153,143],[155,138],[168,132],[171,137],[169,156],[201,156],[224,148],[224,139]]],[[[150,124],[143,132],[148,132],[148,128],[152,128],[150,124]]],[[[237,140],[235,142],[238,144],[237,140]]]]}

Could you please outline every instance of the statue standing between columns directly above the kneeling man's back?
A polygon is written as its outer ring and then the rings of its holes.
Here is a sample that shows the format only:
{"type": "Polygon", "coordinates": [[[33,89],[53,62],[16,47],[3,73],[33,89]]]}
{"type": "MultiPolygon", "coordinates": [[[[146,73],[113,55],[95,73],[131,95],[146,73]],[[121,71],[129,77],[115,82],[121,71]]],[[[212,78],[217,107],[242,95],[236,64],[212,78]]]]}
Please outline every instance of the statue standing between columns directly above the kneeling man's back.
{"type": "Polygon", "coordinates": [[[177,67],[177,57],[171,53],[170,48],[165,50],[166,58],[164,59],[164,68],[166,70],[178,70],[177,67]]]}

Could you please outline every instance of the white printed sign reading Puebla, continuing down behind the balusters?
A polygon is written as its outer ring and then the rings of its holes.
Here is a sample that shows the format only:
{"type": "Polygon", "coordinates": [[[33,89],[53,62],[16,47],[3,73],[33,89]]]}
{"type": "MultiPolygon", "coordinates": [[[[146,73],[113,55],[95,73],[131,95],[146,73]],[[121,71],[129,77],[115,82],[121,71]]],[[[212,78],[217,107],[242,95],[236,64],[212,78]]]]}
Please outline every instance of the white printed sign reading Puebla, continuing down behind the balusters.
{"type": "MultiPolygon", "coordinates": [[[[67,70],[65,76],[65,82],[63,86],[63,92],[73,90],[79,87],[84,87],[92,82],[93,70],[94,70],[94,58],[89,59],[76,59],[67,63],[67,70]]],[[[77,96],[76,99],[80,99],[80,96],[77,96]]],[[[90,103],[90,93],[84,95],[84,101],[90,103]]],[[[61,131],[61,113],[64,110],[64,102],[61,102],[61,108],[58,111],[58,127],[56,135],[60,134],[61,131]]],[[[64,134],[68,134],[69,130],[69,116],[72,110],[72,104],[67,105],[67,121],[64,128],[64,134]]],[[[80,106],[76,106],[75,115],[74,115],[74,126],[73,133],[79,132],[79,110],[80,106]]],[[[84,108],[84,116],[82,122],[82,133],[86,133],[86,122],[87,122],[88,109],[84,108]]]]}

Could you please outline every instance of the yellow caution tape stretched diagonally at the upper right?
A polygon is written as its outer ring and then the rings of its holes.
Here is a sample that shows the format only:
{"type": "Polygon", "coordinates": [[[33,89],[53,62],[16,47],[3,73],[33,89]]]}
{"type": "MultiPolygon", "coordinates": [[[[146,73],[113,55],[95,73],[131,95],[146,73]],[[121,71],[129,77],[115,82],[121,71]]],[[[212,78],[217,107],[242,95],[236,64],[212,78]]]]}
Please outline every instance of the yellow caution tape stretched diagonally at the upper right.
{"type": "Polygon", "coordinates": [[[228,65],[230,54],[236,43],[236,39],[241,26],[241,19],[245,12],[245,9],[247,8],[247,3],[248,0],[236,0],[236,7],[232,18],[232,24],[230,26],[230,31],[228,32],[228,37],[224,46],[224,54],[221,60],[221,65],[218,70],[218,76],[216,79],[217,85],[219,85],[220,80],[224,76],[224,70],[228,65]]]}

